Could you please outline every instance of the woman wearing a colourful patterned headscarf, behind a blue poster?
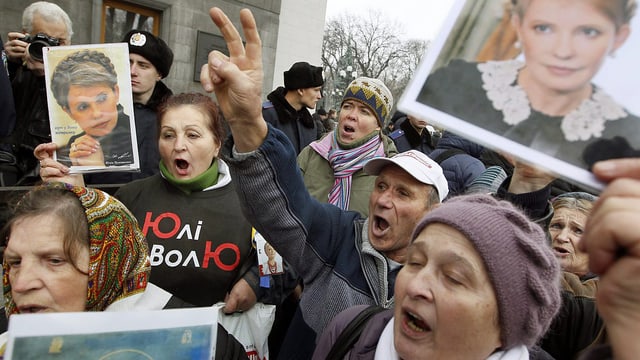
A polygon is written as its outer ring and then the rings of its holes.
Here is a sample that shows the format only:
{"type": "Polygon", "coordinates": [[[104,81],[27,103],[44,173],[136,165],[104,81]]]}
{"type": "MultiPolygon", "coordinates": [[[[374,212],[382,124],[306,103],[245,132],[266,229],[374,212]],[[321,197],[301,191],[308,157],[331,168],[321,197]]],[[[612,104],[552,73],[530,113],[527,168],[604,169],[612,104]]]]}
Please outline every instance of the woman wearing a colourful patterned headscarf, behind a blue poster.
{"type": "MultiPolygon", "coordinates": [[[[148,283],[147,243],[137,221],[100,190],[63,183],[35,188],[17,203],[4,235],[8,317],[186,305],[148,283]]],[[[216,359],[246,358],[244,348],[228,341],[221,326],[218,334],[223,351],[218,349],[216,359]]],[[[0,335],[3,344],[6,340],[7,333],[0,335]]]]}

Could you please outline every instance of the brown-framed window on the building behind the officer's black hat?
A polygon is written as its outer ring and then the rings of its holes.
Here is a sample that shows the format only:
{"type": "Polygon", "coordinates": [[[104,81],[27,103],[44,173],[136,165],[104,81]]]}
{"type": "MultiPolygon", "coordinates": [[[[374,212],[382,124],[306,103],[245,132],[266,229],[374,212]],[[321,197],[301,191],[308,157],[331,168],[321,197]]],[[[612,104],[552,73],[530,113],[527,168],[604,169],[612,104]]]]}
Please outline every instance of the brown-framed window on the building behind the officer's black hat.
{"type": "Polygon", "coordinates": [[[131,29],[159,34],[162,12],[124,1],[104,0],[102,3],[103,43],[119,42],[131,29]]]}

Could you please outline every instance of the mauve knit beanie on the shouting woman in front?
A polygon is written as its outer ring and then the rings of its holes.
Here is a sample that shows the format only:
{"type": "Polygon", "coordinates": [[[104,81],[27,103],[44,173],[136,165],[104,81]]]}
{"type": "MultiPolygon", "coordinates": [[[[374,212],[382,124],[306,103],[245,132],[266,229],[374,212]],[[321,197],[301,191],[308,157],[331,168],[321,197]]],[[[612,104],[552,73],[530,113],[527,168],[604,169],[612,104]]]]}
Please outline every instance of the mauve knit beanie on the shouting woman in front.
{"type": "Polygon", "coordinates": [[[533,345],[560,308],[560,266],[542,228],[490,195],[453,197],[420,220],[460,231],[482,258],[498,302],[503,349],[533,345]]]}

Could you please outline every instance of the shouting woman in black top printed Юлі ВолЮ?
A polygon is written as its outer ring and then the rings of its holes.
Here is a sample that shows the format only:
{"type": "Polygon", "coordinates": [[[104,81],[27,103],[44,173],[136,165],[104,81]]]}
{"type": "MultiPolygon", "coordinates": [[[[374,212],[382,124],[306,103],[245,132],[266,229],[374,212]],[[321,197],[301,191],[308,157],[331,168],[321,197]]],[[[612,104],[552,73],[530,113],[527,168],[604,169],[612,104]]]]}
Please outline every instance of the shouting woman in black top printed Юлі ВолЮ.
{"type": "MultiPolygon", "coordinates": [[[[262,295],[279,297],[273,287],[269,294],[260,288],[252,228],[218,158],[225,132],[216,103],[198,93],[173,95],[159,107],[158,121],[160,173],[115,194],[150,244],[151,282],[196,306],[226,301],[227,312],[247,310],[262,295]]],[[[44,181],[68,179],[69,169],[51,159],[54,149],[42,144],[35,151],[44,181]]]]}

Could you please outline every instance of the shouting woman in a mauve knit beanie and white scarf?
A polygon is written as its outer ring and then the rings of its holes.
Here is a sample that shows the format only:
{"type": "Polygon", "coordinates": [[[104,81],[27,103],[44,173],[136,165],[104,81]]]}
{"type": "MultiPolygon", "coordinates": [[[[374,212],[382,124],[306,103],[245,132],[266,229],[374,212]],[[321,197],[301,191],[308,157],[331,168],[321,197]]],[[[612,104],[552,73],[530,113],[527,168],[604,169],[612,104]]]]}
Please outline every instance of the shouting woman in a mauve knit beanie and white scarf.
{"type": "MultiPolygon", "coordinates": [[[[418,223],[394,309],[373,315],[341,355],[528,359],[527,347],[559,309],[559,276],[544,232],[513,205],[488,195],[452,198],[418,223]]],[[[328,325],[314,359],[341,345],[336,339],[362,310],[347,309],[328,325]]]]}

